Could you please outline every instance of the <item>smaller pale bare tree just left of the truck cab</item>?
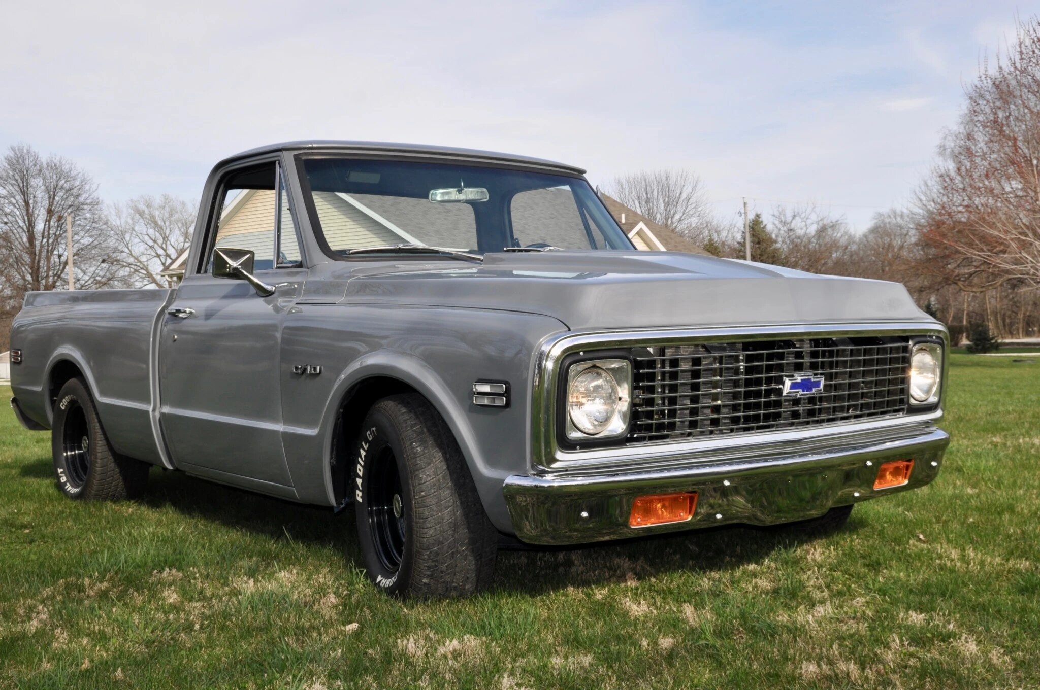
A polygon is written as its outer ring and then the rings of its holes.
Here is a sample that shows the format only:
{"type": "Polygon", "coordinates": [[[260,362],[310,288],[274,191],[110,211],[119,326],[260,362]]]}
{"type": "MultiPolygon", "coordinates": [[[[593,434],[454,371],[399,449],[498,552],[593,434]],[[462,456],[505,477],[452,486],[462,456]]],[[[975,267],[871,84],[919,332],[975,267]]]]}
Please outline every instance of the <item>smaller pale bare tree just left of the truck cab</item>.
{"type": "Polygon", "coordinates": [[[111,205],[108,221],[128,276],[137,285],[168,287],[159,271],[187,247],[194,219],[191,207],[170,194],[111,205]]]}

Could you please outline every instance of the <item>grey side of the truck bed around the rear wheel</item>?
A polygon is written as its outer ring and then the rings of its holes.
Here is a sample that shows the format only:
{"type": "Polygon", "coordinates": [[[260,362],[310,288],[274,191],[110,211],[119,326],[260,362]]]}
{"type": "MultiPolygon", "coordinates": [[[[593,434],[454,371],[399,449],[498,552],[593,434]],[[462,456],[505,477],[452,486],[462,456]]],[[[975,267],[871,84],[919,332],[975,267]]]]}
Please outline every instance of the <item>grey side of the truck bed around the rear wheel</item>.
{"type": "MultiPolygon", "coordinates": [[[[75,366],[87,374],[98,414],[115,449],[162,463],[153,427],[158,402],[155,338],[173,290],[30,292],[11,326],[22,364],[11,367],[11,390],[26,417],[50,428],[52,374],[75,366]]],[[[67,376],[66,376],[67,377],[67,376]]],[[[63,379],[62,379],[63,380],[63,379]]]]}

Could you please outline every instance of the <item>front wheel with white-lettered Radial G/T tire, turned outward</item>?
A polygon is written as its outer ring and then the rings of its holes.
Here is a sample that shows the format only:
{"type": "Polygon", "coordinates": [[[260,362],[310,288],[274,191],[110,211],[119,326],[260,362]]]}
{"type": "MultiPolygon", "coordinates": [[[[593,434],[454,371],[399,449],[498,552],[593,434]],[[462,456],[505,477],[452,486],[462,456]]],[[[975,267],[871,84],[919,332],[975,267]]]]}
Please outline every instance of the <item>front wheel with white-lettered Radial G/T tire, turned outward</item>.
{"type": "Polygon", "coordinates": [[[420,395],[369,410],[352,490],[368,578],[395,595],[466,596],[494,577],[498,531],[462,451],[420,395]]]}

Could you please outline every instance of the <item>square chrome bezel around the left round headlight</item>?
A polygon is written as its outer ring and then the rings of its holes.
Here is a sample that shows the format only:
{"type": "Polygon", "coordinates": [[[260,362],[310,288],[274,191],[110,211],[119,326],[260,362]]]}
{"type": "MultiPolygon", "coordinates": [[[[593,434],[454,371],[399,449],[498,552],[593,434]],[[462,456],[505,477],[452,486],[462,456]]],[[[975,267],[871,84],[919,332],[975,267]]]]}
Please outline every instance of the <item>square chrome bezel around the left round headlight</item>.
{"type": "Polygon", "coordinates": [[[582,450],[604,445],[617,445],[628,435],[632,417],[632,361],[621,350],[579,352],[568,356],[561,368],[561,381],[556,403],[556,442],[561,448],[582,450]],[[613,379],[620,404],[607,428],[596,434],[581,431],[571,419],[571,384],[582,373],[598,368],[613,379]]]}

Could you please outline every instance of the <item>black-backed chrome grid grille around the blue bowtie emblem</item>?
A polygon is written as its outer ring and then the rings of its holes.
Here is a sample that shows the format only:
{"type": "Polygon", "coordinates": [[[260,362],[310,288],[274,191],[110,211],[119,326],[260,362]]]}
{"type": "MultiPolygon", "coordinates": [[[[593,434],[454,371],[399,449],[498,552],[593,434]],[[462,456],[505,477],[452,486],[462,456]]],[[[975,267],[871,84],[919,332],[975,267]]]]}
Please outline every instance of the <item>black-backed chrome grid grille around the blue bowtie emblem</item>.
{"type": "Polygon", "coordinates": [[[907,410],[905,336],[754,340],[632,350],[629,443],[783,430],[907,410]],[[783,395],[784,378],[823,376],[783,395]]]}

